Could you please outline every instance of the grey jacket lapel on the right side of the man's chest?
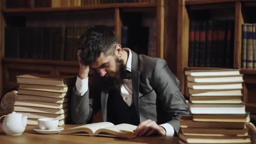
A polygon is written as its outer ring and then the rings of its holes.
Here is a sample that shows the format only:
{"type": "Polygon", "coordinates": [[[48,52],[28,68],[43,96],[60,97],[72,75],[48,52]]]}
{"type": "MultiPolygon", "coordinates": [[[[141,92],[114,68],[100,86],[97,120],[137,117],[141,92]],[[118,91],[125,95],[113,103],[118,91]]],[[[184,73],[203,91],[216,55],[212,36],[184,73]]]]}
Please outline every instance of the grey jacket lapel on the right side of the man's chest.
{"type": "Polygon", "coordinates": [[[139,75],[138,69],[138,55],[137,53],[132,53],[131,61],[131,75],[132,75],[132,86],[133,86],[133,104],[136,110],[136,114],[139,117],[139,75]]]}

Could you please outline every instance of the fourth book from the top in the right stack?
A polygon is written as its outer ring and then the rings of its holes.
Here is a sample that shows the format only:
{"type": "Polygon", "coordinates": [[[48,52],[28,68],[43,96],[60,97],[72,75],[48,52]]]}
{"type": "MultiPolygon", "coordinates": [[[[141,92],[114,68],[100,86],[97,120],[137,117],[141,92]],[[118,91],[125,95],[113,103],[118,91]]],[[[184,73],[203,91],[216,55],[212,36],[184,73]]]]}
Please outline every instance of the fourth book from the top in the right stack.
{"type": "Polygon", "coordinates": [[[189,88],[191,96],[243,96],[242,89],[235,90],[194,90],[189,88]]]}

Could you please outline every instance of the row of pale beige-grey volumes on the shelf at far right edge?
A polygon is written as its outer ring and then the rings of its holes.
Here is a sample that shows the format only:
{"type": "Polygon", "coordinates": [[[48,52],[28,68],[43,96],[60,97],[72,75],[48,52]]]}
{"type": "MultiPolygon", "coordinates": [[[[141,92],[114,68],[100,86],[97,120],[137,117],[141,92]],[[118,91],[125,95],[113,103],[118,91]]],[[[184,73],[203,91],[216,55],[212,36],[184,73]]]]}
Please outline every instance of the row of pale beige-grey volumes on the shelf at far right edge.
{"type": "Polygon", "coordinates": [[[242,24],[242,68],[256,69],[256,24],[242,24]]]}

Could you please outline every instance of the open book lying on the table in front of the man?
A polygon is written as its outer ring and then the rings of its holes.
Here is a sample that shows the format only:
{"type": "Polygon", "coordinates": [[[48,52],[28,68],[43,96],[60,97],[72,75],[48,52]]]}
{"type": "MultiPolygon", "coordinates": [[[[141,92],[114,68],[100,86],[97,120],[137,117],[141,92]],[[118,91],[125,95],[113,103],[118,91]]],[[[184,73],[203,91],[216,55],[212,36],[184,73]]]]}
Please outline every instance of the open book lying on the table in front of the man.
{"type": "Polygon", "coordinates": [[[114,125],[109,122],[92,123],[75,128],[64,129],[60,134],[75,134],[88,136],[110,136],[131,139],[136,137],[133,133],[137,126],[122,123],[114,125]]]}

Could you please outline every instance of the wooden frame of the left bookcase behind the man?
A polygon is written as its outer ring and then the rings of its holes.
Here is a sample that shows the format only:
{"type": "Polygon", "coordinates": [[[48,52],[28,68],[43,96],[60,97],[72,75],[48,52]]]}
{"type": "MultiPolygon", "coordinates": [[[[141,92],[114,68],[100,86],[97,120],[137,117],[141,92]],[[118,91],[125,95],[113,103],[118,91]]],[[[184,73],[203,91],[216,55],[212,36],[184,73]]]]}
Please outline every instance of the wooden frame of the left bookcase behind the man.
{"type": "MultiPolygon", "coordinates": [[[[60,17],[59,19],[64,17],[66,21],[69,21],[69,18],[76,17],[77,15],[83,16],[83,14],[91,15],[96,13],[98,14],[97,16],[100,16],[104,14],[106,15],[107,13],[107,16],[111,17],[109,18],[111,21],[113,18],[113,22],[108,26],[114,27],[117,37],[119,41],[121,41],[121,28],[124,25],[124,20],[133,19],[131,17],[128,17],[129,13],[141,13],[143,19],[148,19],[147,16],[155,17],[155,29],[153,29],[155,33],[155,38],[153,40],[155,43],[155,56],[165,58],[168,57],[168,55],[165,55],[164,53],[164,51],[167,51],[164,38],[166,28],[165,18],[168,17],[168,15],[165,14],[165,9],[168,9],[169,7],[169,5],[166,6],[165,3],[169,4],[172,1],[174,0],[155,0],[154,3],[110,3],[59,8],[35,8],[33,6],[29,8],[5,8],[5,0],[0,0],[0,11],[2,12],[0,15],[0,59],[3,60],[3,63],[0,64],[0,69],[2,69],[0,80],[3,81],[3,83],[0,84],[0,93],[3,93],[4,90],[8,90],[17,86],[15,75],[22,75],[27,73],[77,75],[79,68],[77,61],[5,58],[4,29],[6,26],[27,27],[27,21],[31,23],[34,19],[37,19],[38,17],[44,17],[45,19],[51,18],[52,16],[56,18],[60,17]],[[128,16],[123,16],[123,13],[128,13],[128,16]]],[[[172,11],[171,8],[169,9],[170,11],[172,11]]],[[[65,21],[60,21],[60,23],[65,23],[65,21]]],[[[136,24],[136,21],[130,21],[130,23],[136,24]]],[[[41,25],[44,26],[43,23],[41,25]]],[[[37,27],[40,27],[41,25],[37,27]]],[[[78,26],[80,27],[81,24],[78,24],[78,26]]],[[[29,25],[28,27],[31,27],[31,25],[29,25]]],[[[45,27],[48,26],[46,25],[45,27]]],[[[70,26],[69,23],[67,27],[72,27],[72,25],[70,26]]],[[[73,27],[77,27],[77,25],[73,27]]]]}

